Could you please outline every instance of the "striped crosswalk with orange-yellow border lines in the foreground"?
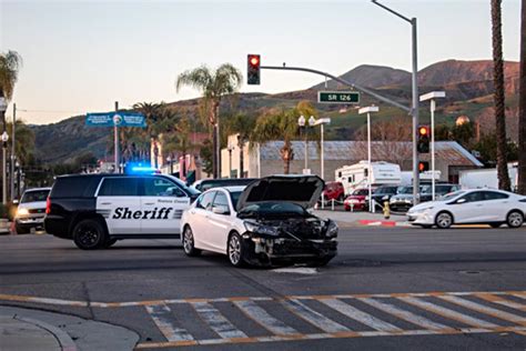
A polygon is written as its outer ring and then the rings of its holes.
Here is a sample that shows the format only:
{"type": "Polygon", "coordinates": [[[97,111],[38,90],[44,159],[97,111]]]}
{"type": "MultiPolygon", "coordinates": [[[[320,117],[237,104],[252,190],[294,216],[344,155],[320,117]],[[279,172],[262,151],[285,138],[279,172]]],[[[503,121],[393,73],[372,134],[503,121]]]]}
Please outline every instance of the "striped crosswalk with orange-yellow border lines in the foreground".
{"type": "Polygon", "coordinates": [[[138,349],[494,332],[526,335],[526,291],[130,302],[68,301],[0,294],[1,300],[93,309],[135,308],[135,313],[146,313],[163,338],[139,343],[138,349]],[[251,325],[259,325],[259,329],[251,325]]]}

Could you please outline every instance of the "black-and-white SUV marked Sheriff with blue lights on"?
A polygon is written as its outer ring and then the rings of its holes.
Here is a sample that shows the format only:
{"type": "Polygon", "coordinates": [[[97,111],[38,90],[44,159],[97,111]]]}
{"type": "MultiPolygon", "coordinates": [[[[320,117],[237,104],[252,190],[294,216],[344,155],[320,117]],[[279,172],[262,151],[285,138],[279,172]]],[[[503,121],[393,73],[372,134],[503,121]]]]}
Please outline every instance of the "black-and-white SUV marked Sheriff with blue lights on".
{"type": "Polygon", "coordinates": [[[62,176],[48,198],[44,228],[83,250],[122,239],[180,239],[181,215],[198,195],[165,174],[62,176]]]}

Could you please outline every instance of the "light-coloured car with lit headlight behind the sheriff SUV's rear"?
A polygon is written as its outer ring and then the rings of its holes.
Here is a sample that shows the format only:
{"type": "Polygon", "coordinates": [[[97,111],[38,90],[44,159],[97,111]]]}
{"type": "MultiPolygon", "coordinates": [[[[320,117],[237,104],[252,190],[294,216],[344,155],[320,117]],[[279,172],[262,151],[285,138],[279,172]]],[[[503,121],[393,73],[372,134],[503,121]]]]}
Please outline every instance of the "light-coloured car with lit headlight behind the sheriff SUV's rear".
{"type": "Polygon", "coordinates": [[[28,189],[23,192],[14,214],[14,230],[18,234],[27,234],[43,229],[45,201],[51,188],[28,189]]]}

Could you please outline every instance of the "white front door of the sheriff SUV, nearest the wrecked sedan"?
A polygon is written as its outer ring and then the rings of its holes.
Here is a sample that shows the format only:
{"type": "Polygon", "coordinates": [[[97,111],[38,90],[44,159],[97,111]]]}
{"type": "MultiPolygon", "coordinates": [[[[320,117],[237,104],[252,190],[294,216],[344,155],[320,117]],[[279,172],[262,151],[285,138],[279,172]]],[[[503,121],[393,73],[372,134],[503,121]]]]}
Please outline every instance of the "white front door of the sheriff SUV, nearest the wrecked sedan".
{"type": "Polygon", "coordinates": [[[190,198],[166,178],[146,177],[143,181],[142,233],[179,234],[181,217],[190,205],[190,198]]]}

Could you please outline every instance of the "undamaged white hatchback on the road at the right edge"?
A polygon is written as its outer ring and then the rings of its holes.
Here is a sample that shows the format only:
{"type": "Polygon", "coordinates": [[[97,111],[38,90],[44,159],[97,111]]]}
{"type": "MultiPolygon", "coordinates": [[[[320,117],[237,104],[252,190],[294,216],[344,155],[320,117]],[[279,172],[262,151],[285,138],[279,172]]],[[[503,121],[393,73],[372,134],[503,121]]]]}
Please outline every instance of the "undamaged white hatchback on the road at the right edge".
{"type": "Polygon", "coordinates": [[[424,202],[409,209],[412,224],[449,228],[452,224],[489,224],[498,228],[523,225],[526,197],[513,192],[473,189],[452,192],[438,201],[424,202]]]}

